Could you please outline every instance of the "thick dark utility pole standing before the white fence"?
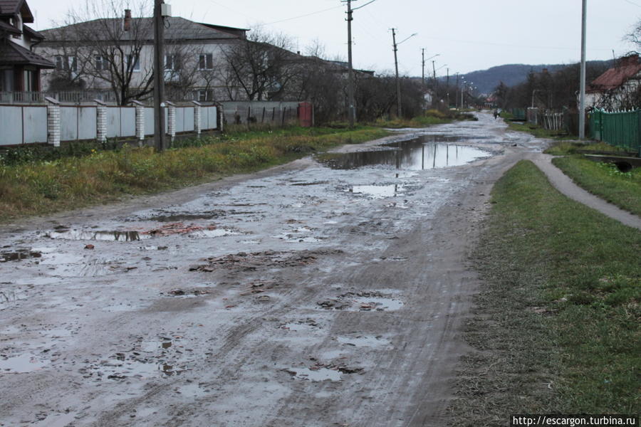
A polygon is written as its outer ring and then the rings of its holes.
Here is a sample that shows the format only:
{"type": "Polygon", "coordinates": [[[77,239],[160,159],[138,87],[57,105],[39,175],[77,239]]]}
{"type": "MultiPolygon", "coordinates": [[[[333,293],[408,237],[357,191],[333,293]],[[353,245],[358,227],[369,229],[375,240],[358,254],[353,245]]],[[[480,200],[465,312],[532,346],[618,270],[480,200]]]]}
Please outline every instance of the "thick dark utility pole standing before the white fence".
{"type": "Polygon", "coordinates": [[[156,152],[167,149],[165,137],[165,20],[163,0],[154,0],[154,143],[156,152]]]}

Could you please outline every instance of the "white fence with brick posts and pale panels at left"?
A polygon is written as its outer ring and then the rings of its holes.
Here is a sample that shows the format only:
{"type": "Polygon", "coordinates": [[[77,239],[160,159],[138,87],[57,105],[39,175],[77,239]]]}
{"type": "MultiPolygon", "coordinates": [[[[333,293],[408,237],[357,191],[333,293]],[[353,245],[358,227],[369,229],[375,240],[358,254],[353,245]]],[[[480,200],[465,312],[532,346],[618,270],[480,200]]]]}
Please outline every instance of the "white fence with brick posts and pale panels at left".
{"type": "MultiPolygon", "coordinates": [[[[47,105],[0,105],[0,146],[108,138],[135,138],[139,141],[154,134],[154,110],[141,102],[131,107],[111,107],[100,100],[95,105],[61,105],[46,98],[47,105]]],[[[165,133],[177,134],[220,130],[219,108],[198,102],[178,106],[167,102],[165,133]]]]}

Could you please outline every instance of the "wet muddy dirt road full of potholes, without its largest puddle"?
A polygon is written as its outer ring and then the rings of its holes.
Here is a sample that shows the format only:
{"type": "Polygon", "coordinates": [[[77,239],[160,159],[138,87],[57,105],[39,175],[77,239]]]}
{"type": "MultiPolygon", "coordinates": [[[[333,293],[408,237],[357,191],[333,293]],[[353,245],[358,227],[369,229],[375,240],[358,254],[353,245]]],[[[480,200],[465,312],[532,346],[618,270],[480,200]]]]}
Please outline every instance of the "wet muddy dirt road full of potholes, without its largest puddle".
{"type": "Polygon", "coordinates": [[[443,425],[467,251],[543,142],[412,132],[5,226],[0,425],[443,425]]]}

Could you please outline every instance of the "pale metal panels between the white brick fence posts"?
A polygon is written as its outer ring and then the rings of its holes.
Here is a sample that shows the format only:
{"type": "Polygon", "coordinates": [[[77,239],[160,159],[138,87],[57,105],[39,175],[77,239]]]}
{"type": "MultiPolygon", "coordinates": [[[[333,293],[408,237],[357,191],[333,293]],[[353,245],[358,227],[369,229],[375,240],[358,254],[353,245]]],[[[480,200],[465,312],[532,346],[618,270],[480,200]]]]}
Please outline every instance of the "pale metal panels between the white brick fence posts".
{"type": "MultiPolygon", "coordinates": [[[[96,106],[61,105],[61,141],[95,139],[97,135],[96,106]]],[[[106,107],[107,137],[135,137],[135,107],[106,107]]],[[[167,108],[165,108],[167,117],[167,108]]],[[[219,128],[218,108],[201,107],[201,129],[219,128]]],[[[165,132],[168,122],[165,120],[165,132]]],[[[176,107],[176,132],[194,131],[194,107],[176,107]]],[[[154,134],[154,110],[145,107],[145,135],[154,134]]],[[[47,142],[46,105],[0,105],[0,145],[47,142]]]]}

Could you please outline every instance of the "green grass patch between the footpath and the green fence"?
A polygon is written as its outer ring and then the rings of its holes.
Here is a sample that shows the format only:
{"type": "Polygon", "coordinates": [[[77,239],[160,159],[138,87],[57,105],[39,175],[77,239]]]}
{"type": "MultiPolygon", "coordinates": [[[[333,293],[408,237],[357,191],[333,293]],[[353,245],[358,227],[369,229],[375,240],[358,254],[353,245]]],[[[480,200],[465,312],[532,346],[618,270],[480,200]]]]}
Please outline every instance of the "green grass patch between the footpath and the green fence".
{"type": "Polygon", "coordinates": [[[585,190],[641,216],[641,168],[619,172],[614,164],[583,157],[557,157],[552,163],[585,190]]]}

